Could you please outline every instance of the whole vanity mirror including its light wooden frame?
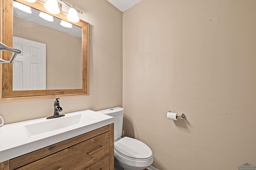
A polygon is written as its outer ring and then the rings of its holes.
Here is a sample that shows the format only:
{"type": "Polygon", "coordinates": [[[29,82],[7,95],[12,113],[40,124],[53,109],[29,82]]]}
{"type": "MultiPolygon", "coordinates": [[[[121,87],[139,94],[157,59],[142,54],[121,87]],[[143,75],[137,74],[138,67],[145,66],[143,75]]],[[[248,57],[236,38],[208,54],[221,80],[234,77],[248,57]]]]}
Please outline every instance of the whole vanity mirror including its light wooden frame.
{"type": "MultiPolygon", "coordinates": [[[[64,12],[50,14],[54,21],[46,21],[39,17],[40,13],[49,14],[42,2],[1,2],[4,7],[1,15],[4,21],[2,42],[22,48],[22,54],[16,57],[13,65],[2,64],[2,100],[88,95],[89,24],[80,20],[78,23],[69,22],[69,28],[64,27],[60,25],[67,21],[64,12]],[[32,14],[13,7],[14,2],[30,6],[32,14]],[[32,44],[31,47],[28,44],[32,44]],[[24,61],[27,55],[27,58],[33,56],[40,61],[24,61]],[[27,79],[24,78],[26,76],[27,79]]],[[[1,57],[9,59],[10,54],[3,52],[1,57]]]]}

